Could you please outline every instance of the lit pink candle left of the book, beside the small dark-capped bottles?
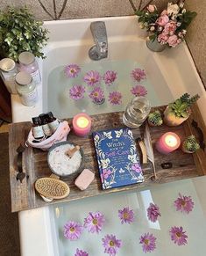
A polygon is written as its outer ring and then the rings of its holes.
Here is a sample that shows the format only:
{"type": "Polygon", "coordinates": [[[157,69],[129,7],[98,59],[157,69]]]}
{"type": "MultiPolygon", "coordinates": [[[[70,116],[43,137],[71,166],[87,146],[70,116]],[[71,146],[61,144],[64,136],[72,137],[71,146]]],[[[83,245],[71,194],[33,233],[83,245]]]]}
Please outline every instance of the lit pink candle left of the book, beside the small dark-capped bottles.
{"type": "Polygon", "coordinates": [[[88,135],[91,130],[91,118],[87,113],[76,114],[72,121],[72,124],[75,135],[78,136],[88,135]]]}

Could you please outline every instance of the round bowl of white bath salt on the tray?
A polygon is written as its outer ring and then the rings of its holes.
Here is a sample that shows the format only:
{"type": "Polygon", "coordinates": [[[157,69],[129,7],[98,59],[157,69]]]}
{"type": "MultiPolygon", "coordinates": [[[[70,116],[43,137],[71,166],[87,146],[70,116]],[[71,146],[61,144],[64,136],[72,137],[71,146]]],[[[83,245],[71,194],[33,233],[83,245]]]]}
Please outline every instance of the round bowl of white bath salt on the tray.
{"type": "Polygon", "coordinates": [[[68,150],[75,148],[74,143],[61,142],[54,144],[47,155],[47,162],[51,171],[62,178],[67,178],[76,172],[82,172],[84,164],[83,151],[76,150],[72,157],[67,155],[68,150]]]}

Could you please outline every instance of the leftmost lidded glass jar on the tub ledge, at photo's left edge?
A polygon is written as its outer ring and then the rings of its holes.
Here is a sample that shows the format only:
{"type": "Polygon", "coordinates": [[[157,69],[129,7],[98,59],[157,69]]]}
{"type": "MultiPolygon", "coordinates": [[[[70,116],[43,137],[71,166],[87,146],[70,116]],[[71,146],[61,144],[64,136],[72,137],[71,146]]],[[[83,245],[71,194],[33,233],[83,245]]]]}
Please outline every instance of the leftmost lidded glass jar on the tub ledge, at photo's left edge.
{"type": "Polygon", "coordinates": [[[17,94],[15,76],[18,73],[16,63],[10,58],[4,58],[0,61],[0,75],[7,88],[12,94],[17,94]]]}

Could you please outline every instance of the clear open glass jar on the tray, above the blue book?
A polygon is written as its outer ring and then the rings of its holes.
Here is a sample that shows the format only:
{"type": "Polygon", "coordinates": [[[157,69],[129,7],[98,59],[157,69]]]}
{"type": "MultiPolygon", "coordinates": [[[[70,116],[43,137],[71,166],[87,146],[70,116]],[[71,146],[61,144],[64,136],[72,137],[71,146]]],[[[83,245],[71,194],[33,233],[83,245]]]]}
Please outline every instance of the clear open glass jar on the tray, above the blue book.
{"type": "Polygon", "coordinates": [[[151,105],[148,99],[143,96],[135,97],[126,106],[123,114],[123,122],[129,128],[138,128],[146,121],[150,113],[151,105]]]}

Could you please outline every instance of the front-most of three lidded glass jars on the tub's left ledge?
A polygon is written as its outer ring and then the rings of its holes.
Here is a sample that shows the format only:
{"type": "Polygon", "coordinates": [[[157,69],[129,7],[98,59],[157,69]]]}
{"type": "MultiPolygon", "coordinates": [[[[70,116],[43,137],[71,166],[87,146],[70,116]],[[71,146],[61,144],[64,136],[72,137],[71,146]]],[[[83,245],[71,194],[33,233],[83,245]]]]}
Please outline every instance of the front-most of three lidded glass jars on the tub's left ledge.
{"type": "Polygon", "coordinates": [[[15,77],[18,96],[25,106],[34,106],[38,101],[36,85],[32,83],[32,76],[25,71],[18,72],[15,77]]]}

